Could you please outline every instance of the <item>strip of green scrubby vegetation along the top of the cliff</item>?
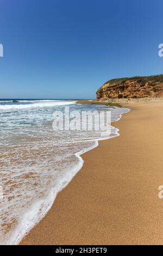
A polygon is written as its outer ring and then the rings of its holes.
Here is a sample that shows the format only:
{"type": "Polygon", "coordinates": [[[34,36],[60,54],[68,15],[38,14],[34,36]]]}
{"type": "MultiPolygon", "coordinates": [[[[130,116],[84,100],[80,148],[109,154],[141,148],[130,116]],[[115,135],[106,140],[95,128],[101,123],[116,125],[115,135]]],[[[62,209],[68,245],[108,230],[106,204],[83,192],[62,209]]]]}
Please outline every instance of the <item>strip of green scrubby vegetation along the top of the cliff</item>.
{"type": "MultiPolygon", "coordinates": [[[[109,86],[112,86],[113,84],[122,84],[127,81],[130,82],[139,82],[139,83],[147,83],[147,82],[153,82],[153,83],[162,83],[163,82],[163,75],[155,75],[155,76],[133,76],[133,77],[122,77],[122,78],[115,78],[112,80],[107,81],[104,84],[108,84],[109,86]]],[[[103,86],[104,86],[103,84],[103,86]]]]}

